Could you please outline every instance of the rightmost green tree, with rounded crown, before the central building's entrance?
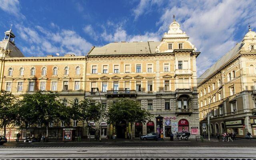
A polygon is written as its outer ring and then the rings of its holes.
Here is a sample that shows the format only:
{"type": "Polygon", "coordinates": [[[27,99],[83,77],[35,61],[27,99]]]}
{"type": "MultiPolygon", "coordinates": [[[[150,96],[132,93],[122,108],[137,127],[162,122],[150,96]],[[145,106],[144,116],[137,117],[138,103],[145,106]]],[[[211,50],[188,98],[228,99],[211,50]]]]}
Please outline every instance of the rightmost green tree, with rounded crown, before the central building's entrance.
{"type": "MultiPolygon", "coordinates": [[[[148,110],[141,108],[141,104],[135,100],[122,99],[111,105],[108,110],[108,123],[115,125],[126,121],[131,124],[131,130],[134,123],[146,123],[150,117],[148,110]]],[[[132,140],[132,133],[130,138],[132,140]]]]}

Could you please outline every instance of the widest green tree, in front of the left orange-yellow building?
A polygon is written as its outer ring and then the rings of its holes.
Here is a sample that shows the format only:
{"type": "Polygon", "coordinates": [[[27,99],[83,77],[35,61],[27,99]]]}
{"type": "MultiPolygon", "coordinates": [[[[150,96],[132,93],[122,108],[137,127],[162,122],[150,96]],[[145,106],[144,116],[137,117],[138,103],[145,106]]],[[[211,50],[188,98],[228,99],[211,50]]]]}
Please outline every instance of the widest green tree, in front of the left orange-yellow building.
{"type": "Polygon", "coordinates": [[[58,94],[39,90],[33,94],[23,95],[20,102],[20,119],[30,124],[44,124],[48,140],[49,124],[66,118],[66,110],[67,107],[60,102],[58,94]]]}

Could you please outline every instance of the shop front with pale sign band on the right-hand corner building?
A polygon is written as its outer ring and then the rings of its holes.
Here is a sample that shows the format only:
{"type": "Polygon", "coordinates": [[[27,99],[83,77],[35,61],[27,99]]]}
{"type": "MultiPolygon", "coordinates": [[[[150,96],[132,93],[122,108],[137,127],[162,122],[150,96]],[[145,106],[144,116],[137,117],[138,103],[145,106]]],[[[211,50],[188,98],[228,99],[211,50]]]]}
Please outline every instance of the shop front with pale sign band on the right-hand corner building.
{"type": "Polygon", "coordinates": [[[235,133],[236,136],[244,136],[244,120],[226,121],[226,128],[228,133],[235,133]]]}

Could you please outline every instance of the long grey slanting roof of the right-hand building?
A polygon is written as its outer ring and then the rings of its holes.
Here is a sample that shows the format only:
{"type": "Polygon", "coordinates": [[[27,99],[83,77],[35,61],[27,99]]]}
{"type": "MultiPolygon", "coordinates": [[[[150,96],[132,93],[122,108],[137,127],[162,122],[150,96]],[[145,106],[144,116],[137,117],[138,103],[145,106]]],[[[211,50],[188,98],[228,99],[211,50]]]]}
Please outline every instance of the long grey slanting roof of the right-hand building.
{"type": "Polygon", "coordinates": [[[200,84],[205,80],[205,78],[208,78],[211,74],[214,72],[220,70],[220,68],[223,67],[226,62],[231,60],[236,54],[240,52],[240,49],[242,48],[244,44],[242,42],[238,43],[232,50],[230,50],[228,53],[226,53],[222,58],[220,58],[215,64],[213,64],[208,70],[206,70],[198,79],[197,83],[200,84]]]}

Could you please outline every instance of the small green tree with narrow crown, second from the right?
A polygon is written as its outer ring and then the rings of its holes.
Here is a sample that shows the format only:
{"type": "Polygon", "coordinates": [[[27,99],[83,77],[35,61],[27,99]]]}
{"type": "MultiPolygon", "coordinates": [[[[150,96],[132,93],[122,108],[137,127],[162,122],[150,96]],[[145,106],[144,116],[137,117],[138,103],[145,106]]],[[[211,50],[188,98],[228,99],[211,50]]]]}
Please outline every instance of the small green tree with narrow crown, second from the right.
{"type": "Polygon", "coordinates": [[[78,120],[80,122],[86,122],[89,132],[90,141],[90,131],[92,127],[90,126],[91,121],[98,121],[100,119],[100,114],[102,112],[100,104],[95,104],[90,99],[84,99],[79,103],[72,104],[72,119],[78,120]]]}

